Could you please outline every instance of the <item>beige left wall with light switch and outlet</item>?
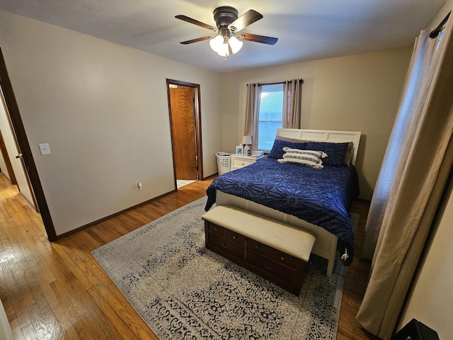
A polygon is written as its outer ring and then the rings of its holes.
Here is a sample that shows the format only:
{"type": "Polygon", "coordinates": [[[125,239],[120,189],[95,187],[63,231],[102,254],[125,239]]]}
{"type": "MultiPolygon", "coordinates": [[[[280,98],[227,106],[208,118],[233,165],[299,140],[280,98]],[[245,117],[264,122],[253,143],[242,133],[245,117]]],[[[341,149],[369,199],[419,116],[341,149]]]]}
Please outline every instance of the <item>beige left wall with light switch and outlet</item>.
{"type": "Polygon", "coordinates": [[[217,172],[221,74],[5,12],[0,44],[57,235],[174,189],[167,78],[200,84],[217,172]]]}

